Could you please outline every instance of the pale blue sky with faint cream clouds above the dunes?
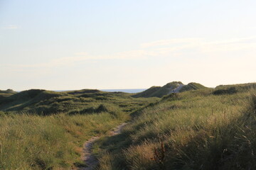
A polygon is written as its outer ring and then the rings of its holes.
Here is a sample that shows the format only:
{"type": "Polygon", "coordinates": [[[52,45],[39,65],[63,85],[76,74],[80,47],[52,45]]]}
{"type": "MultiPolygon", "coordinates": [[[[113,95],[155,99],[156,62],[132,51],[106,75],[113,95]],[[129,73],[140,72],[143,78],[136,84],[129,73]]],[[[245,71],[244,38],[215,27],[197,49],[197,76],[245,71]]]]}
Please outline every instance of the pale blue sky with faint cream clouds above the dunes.
{"type": "Polygon", "coordinates": [[[256,1],[0,0],[0,89],[255,82],[256,1]]]}

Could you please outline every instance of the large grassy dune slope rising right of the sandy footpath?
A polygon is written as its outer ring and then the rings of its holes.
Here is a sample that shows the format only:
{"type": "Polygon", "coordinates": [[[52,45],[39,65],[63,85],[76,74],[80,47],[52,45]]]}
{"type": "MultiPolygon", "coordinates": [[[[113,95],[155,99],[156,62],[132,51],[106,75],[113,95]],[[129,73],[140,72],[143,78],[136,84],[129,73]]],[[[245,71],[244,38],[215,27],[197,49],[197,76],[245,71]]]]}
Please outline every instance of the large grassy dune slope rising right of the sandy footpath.
{"type": "Polygon", "coordinates": [[[171,94],[137,112],[97,142],[98,169],[256,169],[255,92],[229,88],[171,94]]]}

